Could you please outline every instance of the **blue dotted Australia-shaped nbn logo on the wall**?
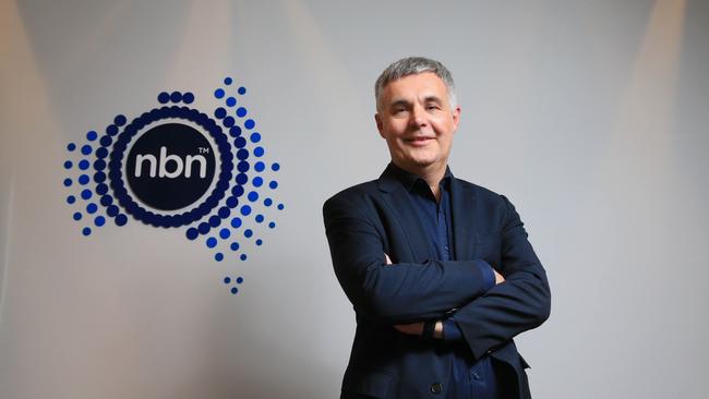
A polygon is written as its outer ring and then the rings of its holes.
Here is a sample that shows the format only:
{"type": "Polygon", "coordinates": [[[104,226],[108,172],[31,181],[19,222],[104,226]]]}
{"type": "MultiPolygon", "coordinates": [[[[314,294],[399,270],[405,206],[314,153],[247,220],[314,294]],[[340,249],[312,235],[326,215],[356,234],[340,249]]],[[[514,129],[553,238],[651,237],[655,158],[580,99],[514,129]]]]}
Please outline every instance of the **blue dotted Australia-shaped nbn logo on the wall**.
{"type": "MultiPolygon", "coordinates": [[[[216,262],[247,261],[244,244],[264,243],[260,232],[276,227],[267,215],[284,204],[273,197],[280,165],[266,161],[256,122],[241,104],[245,93],[226,77],[213,94],[221,104],[208,116],[192,106],[194,94],[163,92],[157,108],[130,121],[118,114],[104,134],[89,131],[85,142],[69,143],[63,184],[82,233],[132,217],[183,229],[216,262]]],[[[242,282],[220,281],[235,294],[242,282]]]]}

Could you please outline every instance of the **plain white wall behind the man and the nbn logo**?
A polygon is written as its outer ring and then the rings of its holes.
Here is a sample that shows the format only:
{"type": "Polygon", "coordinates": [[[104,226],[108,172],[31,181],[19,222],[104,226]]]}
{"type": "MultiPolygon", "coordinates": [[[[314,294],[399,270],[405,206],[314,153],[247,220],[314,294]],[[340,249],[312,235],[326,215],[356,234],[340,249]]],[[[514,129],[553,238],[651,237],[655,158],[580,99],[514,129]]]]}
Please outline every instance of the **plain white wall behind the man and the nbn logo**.
{"type": "Polygon", "coordinates": [[[708,37],[699,0],[2,1],[0,397],[337,396],[353,313],[321,206],[384,168],[372,86],[409,55],[452,70],[453,171],[510,197],[548,269],[536,397],[707,397],[708,37]],[[67,143],[227,75],[283,165],[263,247],[83,237],[67,143]]]}

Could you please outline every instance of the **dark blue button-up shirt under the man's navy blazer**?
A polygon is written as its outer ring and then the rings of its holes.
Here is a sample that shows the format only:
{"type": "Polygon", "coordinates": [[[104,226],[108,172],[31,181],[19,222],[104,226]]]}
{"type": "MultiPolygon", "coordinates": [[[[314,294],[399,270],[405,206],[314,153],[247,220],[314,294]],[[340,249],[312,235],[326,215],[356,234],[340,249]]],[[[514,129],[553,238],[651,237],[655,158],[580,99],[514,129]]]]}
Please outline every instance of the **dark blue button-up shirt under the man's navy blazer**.
{"type": "MultiPolygon", "coordinates": [[[[395,168],[397,178],[407,188],[411,201],[419,213],[421,226],[431,239],[436,258],[454,261],[453,223],[450,213],[450,182],[453,174],[446,168],[445,176],[438,184],[441,198],[436,198],[429,184],[421,178],[395,168]]],[[[495,285],[495,275],[489,266],[480,266],[485,276],[488,288],[495,285]]],[[[462,341],[460,327],[455,322],[455,315],[443,322],[443,334],[446,341],[462,341]]],[[[498,397],[497,382],[491,360],[488,355],[473,359],[467,346],[454,346],[453,375],[447,388],[447,399],[495,399],[498,397]]]]}

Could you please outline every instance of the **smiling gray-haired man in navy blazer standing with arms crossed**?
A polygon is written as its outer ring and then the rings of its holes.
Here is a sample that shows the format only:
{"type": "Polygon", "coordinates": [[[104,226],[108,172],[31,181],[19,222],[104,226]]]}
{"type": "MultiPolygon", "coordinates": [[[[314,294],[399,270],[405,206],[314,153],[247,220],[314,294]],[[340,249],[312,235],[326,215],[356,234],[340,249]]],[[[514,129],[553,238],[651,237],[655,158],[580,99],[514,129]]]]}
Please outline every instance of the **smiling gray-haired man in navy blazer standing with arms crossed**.
{"type": "Polygon", "coordinates": [[[375,95],[392,162],[323,209],[357,315],[341,397],[529,398],[513,338],[549,317],[549,283],[507,198],[450,173],[450,73],[406,58],[375,95]]]}

